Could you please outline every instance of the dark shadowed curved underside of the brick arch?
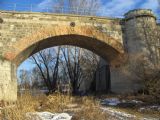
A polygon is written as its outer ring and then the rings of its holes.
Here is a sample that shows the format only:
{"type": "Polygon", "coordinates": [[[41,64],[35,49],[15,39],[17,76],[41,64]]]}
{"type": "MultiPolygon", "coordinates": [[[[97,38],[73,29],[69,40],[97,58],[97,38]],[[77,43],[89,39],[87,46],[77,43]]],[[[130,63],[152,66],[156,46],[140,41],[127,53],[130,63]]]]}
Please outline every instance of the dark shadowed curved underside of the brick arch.
{"type": "Polygon", "coordinates": [[[97,55],[108,61],[110,64],[122,54],[122,51],[118,51],[113,46],[110,46],[109,44],[102,42],[96,38],[72,34],[49,37],[40,40],[28,46],[23,51],[19,52],[14,57],[13,62],[16,65],[19,65],[25,59],[32,56],[38,51],[60,45],[72,45],[80,48],[85,48],[92,51],[93,53],[96,53],[97,55]]]}

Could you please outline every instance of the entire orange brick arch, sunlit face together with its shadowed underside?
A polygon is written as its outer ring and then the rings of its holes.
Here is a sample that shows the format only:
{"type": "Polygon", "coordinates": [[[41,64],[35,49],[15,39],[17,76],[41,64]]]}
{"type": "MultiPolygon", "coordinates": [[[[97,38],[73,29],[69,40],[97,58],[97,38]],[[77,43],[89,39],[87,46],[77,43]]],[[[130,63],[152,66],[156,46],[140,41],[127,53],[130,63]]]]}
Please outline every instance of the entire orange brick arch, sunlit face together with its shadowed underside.
{"type": "Polygon", "coordinates": [[[48,47],[74,45],[91,50],[109,62],[124,53],[120,40],[90,26],[44,27],[15,42],[4,58],[19,65],[32,54],[48,47]]]}

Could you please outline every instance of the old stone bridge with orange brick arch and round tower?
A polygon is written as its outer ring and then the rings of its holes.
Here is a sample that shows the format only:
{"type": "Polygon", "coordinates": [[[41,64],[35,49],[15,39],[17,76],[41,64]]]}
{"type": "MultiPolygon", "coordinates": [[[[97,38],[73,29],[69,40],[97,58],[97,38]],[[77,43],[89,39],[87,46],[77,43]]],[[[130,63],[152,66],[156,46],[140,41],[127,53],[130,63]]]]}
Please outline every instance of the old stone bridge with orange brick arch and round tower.
{"type": "Polygon", "coordinates": [[[86,48],[107,60],[112,91],[138,90],[141,84],[122,73],[121,62],[124,54],[145,48],[143,39],[135,37],[141,20],[158,26],[151,10],[129,11],[123,19],[0,11],[0,100],[17,99],[16,69],[21,62],[58,45],[86,48]]]}

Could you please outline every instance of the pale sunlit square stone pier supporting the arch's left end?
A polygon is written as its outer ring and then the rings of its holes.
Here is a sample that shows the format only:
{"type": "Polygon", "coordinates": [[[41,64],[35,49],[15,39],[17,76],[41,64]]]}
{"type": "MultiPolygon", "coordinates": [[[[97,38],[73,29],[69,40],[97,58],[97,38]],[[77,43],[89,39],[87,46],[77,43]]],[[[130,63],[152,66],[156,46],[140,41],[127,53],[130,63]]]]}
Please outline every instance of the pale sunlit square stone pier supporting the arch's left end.
{"type": "Polygon", "coordinates": [[[7,60],[0,60],[0,100],[17,100],[16,66],[7,60]]]}

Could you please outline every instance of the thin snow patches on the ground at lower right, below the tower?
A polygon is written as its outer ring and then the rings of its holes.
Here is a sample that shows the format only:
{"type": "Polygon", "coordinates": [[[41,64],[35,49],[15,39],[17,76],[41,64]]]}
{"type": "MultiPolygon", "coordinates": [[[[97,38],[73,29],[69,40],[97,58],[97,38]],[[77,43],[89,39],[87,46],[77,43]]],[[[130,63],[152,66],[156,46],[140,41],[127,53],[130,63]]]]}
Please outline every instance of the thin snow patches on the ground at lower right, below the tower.
{"type": "MultiPolygon", "coordinates": [[[[136,114],[130,114],[123,110],[116,109],[116,107],[135,107],[135,106],[142,106],[144,103],[138,100],[119,100],[118,98],[107,98],[101,100],[101,105],[103,106],[101,109],[111,116],[114,116],[117,120],[160,120],[160,115],[158,117],[152,117],[150,115],[137,116],[136,114]],[[104,107],[105,106],[105,107],[104,107]]],[[[160,105],[147,105],[140,107],[138,109],[139,113],[144,112],[159,112],[160,113],[160,105]]]]}

